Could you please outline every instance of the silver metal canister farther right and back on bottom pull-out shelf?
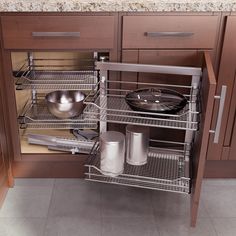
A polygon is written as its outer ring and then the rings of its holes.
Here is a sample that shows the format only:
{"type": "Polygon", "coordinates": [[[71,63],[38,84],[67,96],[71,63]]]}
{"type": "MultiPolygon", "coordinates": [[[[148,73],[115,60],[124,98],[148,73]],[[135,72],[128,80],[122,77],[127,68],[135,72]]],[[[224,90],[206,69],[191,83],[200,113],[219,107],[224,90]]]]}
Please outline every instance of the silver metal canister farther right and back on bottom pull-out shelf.
{"type": "Polygon", "coordinates": [[[126,126],[126,162],[130,165],[147,163],[149,147],[149,128],[143,126],[126,126]]]}

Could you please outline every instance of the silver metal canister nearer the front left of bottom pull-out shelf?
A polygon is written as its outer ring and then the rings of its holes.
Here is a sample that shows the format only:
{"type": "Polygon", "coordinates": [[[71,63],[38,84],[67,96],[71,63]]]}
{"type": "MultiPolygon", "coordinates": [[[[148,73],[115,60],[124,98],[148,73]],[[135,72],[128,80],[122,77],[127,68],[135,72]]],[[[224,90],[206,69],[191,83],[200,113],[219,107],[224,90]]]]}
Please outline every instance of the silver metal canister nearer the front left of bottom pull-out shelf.
{"type": "Polygon", "coordinates": [[[111,177],[123,173],[125,162],[125,135],[107,131],[100,135],[100,168],[104,175],[111,177]]]}

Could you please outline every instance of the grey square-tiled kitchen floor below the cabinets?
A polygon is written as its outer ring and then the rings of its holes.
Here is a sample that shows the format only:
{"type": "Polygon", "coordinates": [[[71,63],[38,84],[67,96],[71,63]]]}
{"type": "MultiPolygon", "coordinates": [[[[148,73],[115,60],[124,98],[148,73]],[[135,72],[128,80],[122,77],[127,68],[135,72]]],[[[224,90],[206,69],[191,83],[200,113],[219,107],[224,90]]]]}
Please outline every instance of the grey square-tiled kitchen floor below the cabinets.
{"type": "Polygon", "coordinates": [[[0,236],[236,236],[236,179],[204,181],[196,228],[189,200],[80,179],[16,179],[0,236]]]}

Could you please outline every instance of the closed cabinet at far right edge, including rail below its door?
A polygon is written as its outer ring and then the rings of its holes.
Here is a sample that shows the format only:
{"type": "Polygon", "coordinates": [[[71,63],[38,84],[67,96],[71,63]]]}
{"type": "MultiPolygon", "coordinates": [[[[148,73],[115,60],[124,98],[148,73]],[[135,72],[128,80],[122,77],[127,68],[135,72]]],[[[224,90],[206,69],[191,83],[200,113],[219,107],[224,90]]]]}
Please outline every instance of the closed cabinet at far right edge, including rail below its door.
{"type": "MultiPolygon", "coordinates": [[[[220,70],[218,76],[217,91],[227,86],[222,124],[220,127],[219,142],[214,143],[210,137],[207,159],[207,176],[209,177],[235,177],[235,112],[236,112],[236,16],[226,18],[226,29],[220,70]]],[[[219,102],[215,104],[212,128],[216,126],[216,113],[219,102]]]]}

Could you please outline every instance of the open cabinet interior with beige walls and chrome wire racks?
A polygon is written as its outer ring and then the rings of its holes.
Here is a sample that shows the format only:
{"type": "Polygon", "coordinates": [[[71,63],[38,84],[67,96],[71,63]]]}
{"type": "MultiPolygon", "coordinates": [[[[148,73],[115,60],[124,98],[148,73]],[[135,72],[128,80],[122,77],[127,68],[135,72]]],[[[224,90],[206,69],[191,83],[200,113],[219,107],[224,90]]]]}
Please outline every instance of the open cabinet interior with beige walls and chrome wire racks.
{"type": "Polygon", "coordinates": [[[199,124],[201,69],[110,63],[102,57],[107,59],[109,54],[12,53],[21,153],[54,154],[62,150],[71,154],[90,153],[86,164],[87,180],[188,194],[191,189],[191,145],[199,124]],[[146,73],[150,79],[114,81],[111,71],[139,73],[140,78],[146,73]],[[155,78],[154,74],[159,76],[155,78]],[[170,79],[166,80],[168,75],[170,79]],[[181,77],[182,80],[179,79],[181,77]],[[147,87],[180,92],[186,97],[187,104],[176,114],[132,110],[125,102],[126,94],[134,88],[147,87]],[[55,90],[84,92],[83,113],[69,119],[55,118],[50,114],[45,95],[55,90]],[[179,130],[180,137],[184,133],[184,140],[150,140],[147,165],[137,167],[126,164],[124,174],[107,177],[99,169],[99,143],[96,140],[81,140],[74,136],[74,130],[93,129],[101,133],[108,129],[108,124],[149,126],[162,131],[168,129],[170,133],[179,130]],[[47,143],[51,139],[55,146],[47,143]],[[35,145],[35,142],[40,145],[35,145]]]}

